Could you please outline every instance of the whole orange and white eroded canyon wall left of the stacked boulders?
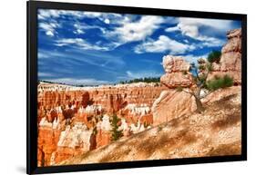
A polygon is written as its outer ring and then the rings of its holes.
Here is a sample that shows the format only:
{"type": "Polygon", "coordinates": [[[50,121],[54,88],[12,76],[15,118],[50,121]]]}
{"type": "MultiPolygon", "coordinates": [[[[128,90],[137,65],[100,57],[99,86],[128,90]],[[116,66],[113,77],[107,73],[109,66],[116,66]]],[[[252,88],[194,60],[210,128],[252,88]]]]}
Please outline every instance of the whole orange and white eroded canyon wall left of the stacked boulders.
{"type": "Polygon", "coordinates": [[[77,88],[38,85],[38,166],[57,162],[111,142],[111,116],[121,119],[123,137],[153,123],[152,103],[167,89],[157,83],[77,88]]]}

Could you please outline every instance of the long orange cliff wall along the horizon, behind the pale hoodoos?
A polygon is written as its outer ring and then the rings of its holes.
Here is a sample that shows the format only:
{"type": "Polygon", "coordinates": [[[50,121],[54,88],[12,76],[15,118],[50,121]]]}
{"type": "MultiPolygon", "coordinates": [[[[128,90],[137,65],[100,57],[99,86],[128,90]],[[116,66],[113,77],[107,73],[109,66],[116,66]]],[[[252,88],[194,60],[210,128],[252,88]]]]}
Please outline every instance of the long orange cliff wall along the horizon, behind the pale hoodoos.
{"type": "Polygon", "coordinates": [[[165,86],[156,86],[154,83],[124,84],[117,86],[100,86],[95,88],[54,88],[55,84],[39,84],[40,89],[47,90],[38,92],[38,108],[52,109],[59,105],[67,106],[69,102],[77,104],[77,107],[88,105],[88,100],[92,104],[101,105],[106,112],[118,112],[129,103],[148,104],[159,97],[165,86]],[[52,88],[50,88],[53,86],[52,88]],[[88,95],[89,94],[89,95],[88,95]],[[83,96],[84,95],[84,96],[83,96]]]}

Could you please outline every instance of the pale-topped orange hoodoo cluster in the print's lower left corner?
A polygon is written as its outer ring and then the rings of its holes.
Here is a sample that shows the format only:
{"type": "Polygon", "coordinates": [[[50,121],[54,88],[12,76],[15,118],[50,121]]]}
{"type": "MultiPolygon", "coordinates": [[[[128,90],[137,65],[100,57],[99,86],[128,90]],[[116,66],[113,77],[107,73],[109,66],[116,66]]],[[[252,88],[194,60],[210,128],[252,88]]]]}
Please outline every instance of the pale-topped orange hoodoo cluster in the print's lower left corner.
{"type": "Polygon", "coordinates": [[[96,148],[96,136],[82,122],[71,127],[43,120],[38,131],[38,166],[54,165],[96,148]]]}

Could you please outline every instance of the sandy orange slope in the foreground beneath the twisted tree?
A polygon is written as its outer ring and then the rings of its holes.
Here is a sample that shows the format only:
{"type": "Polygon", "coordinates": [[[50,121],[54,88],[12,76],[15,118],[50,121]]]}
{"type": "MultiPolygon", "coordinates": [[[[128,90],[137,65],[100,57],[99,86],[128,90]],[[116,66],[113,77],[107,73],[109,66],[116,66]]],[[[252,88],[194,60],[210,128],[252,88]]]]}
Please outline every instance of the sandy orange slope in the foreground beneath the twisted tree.
{"type": "Polygon", "coordinates": [[[205,100],[203,113],[183,115],[58,165],[239,155],[241,86],[220,91],[212,94],[222,94],[215,100],[205,100]]]}

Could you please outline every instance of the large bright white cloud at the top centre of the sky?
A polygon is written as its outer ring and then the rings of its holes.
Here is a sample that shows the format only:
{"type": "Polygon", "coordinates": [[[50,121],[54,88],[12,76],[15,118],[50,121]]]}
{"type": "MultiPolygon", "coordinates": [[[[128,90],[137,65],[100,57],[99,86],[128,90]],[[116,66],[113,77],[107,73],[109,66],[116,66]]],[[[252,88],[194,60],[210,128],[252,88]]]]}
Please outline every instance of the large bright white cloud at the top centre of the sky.
{"type": "Polygon", "coordinates": [[[159,28],[164,19],[160,16],[144,15],[138,21],[132,22],[128,16],[120,21],[121,26],[114,31],[108,31],[108,38],[118,38],[121,44],[141,41],[159,28]]]}

